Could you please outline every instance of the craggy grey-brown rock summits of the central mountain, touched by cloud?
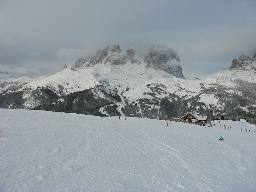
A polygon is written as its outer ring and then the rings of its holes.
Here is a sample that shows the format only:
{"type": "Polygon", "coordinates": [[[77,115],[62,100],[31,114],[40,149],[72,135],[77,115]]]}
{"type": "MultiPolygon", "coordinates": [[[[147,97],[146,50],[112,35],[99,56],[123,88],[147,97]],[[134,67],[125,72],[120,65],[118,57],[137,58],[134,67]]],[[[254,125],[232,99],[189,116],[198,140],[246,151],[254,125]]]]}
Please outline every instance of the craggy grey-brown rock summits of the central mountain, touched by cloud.
{"type": "MultiPolygon", "coordinates": [[[[126,50],[124,54],[120,49],[119,44],[112,43],[105,49],[99,51],[92,58],[79,58],[74,67],[88,68],[90,66],[95,66],[98,63],[124,65],[127,62],[138,65],[141,64],[141,61],[136,57],[136,51],[134,48],[126,50]]],[[[173,76],[185,79],[180,66],[180,58],[178,54],[173,49],[165,45],[154,45],[149,50],[144,63],[146,69],[153,68],[157,70],[164,70],[173,76]]]]}

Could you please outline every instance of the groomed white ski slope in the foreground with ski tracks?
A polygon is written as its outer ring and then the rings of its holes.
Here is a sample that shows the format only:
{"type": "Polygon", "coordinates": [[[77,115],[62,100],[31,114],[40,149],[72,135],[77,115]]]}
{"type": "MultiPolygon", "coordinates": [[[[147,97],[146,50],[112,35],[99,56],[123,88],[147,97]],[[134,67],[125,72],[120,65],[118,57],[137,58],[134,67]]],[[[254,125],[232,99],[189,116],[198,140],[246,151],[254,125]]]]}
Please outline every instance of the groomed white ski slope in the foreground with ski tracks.
{"type": "Polygon", "coordinates": [[[256,126],[245,120],[204,128],[25,109],[0,118],[0,191],[256,191],[256,126]]]}

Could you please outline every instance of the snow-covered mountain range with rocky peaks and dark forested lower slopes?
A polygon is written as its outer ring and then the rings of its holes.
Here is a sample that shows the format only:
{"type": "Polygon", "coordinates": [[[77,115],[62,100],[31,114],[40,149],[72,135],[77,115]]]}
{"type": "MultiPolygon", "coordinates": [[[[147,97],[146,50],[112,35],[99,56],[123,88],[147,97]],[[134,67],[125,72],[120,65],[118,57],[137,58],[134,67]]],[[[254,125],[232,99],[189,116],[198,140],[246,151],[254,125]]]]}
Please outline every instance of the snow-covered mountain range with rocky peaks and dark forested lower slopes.
{"type": "Polygon", "coordinates": [[[112,43],[49,77],[0,74],[0,108],[171,119],[196,110],[209,119],[256,123],[256,56],[216,74],[185,79],[178,53],[154,45],[142,58],[112,43]]]}

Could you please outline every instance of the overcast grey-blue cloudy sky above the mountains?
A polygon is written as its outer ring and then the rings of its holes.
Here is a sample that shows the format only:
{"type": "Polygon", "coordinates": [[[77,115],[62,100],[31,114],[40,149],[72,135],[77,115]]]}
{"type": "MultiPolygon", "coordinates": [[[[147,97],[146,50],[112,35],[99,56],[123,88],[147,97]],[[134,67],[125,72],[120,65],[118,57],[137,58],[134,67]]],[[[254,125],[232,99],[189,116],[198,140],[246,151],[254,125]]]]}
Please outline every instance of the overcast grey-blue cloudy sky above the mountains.
{"type": "Polygon", "coordinates": [[[50,76],[117,42],[178,52],[184,76],[208,76],[256,52],[255,0],[0,0],[0,71],[50,76]]]}

